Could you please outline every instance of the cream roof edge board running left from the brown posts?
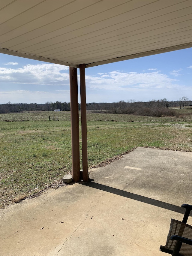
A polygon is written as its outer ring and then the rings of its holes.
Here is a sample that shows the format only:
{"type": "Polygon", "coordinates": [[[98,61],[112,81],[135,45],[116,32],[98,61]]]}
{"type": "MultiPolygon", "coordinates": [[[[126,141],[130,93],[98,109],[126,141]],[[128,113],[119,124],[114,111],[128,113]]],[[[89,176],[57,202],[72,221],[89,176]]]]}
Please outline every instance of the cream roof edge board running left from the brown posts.
{"type": "Polygon", "coordinates": [[[48,58],[44,58],[44,57],[27,54],[27,53],[19,53],[19,52],[4,49],[4,48],[0,48],[0,53],[9,54],[9,55],[18,56],[18,57],[27,58],[27,59],[35,59],[35,60],[54,63],[54,64],[60,64],[60,65],[69,66],[69,67],[73,67],[73,68],[79,68],[79,65],[76,65],[73,63],[58,61],[55,59],[48,59],[48,58]]]}

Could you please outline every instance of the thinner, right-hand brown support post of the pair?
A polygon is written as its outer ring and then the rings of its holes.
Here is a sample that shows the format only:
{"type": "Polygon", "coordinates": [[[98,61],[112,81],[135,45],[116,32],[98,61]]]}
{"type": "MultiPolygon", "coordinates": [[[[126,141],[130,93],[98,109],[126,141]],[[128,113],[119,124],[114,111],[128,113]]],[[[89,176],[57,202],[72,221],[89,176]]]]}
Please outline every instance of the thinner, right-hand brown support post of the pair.
{"type": "Polygon", "coordinates": [[[83,181],[88,182],[85,64],[79,65],[79,70],[80,70],[80,90],[81,90],[81,134],[82,134],[83,181]]]}

